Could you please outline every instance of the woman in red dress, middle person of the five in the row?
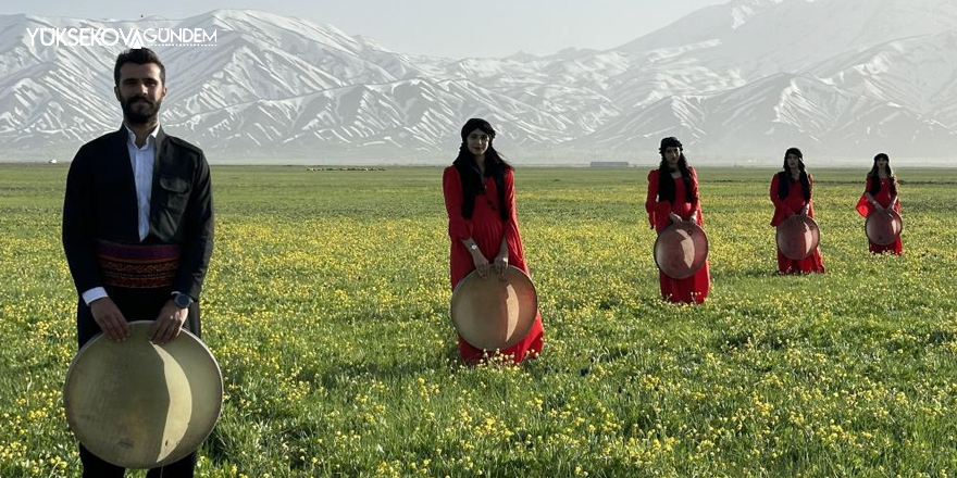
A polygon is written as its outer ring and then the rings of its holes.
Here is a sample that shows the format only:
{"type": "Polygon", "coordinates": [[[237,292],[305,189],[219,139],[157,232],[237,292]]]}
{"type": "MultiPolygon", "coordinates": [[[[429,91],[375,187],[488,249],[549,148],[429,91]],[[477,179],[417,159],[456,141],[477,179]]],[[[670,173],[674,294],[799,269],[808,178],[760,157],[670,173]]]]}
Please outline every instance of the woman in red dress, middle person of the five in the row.
{"type": "MultiPolygon", "coordinates": [[[[661,164],[648,173],[648,197],[645,210],[648,223],[658,234],[671,224],[684,221],[705,225],[701,215],[701,201],[698,196],[698,175],[687,165],[681,141],[674,137],[661,140],[658,149],[661,164]]],[[[671,302],[701,303],[711,288],[708,262],[695,275],[684,279],[673,279],[658,272],[661,297],[671,302]]]]}

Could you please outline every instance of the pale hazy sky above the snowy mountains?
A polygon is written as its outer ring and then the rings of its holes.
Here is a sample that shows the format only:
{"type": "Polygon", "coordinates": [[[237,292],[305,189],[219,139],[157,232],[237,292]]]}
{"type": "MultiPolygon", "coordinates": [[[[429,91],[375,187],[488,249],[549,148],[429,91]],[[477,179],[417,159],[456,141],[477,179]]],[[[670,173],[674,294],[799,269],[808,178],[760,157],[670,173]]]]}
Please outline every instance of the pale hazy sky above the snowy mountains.
{"type": "Polygon", "coordinates": [[[609,49],[725,0],[105,0],[3,1],[0,14],[134,20],[185,18],[217,9],[251,9],[331,24],[401,53],[506,56],[568,47],[609,49]],[[201,4],[201,5],[200,5],[201,4]]]}

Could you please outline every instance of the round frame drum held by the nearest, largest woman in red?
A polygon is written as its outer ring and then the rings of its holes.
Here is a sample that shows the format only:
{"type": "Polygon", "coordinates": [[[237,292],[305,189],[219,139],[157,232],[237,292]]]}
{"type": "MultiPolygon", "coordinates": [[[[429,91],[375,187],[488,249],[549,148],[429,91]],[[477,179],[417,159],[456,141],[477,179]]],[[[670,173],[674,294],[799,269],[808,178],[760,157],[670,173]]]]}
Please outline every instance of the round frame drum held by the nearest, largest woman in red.
{"type": "Polygon", "coordinates": [[[509,266],[505,278],[489,268],[486,278],[471,272],[456,286],[452,324],[472,347],[504,350],[519,343],[538,314],[535,285],[522,269],[509,266]]]}

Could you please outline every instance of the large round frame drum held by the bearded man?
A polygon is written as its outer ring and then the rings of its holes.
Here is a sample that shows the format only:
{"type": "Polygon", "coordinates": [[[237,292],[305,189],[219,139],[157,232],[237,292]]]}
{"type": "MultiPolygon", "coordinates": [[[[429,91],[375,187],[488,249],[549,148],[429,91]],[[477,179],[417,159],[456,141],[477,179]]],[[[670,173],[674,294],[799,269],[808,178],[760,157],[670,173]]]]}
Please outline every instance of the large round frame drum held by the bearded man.
{"type": "Polygon", "coordinates": [[[210,350],[187,330],[164,345],[150,320],[130,337],[94,337],[73,358],[63,386],[66,422],[92,454],[126,468],[156,468],[196,451],[223,405],[223,375],[210,350]]]}

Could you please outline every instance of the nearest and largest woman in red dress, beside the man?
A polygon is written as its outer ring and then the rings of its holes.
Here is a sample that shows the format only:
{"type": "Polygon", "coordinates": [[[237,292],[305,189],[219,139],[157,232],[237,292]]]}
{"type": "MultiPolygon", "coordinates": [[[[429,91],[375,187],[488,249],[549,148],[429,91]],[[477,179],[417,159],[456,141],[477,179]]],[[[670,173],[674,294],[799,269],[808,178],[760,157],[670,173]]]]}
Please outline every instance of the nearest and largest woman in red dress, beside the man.
{"type": "MultiPolygon", "coordinates": [[[[529,274],[519,221],[512,166],[493,148],[495,129],[485,120],[469,120],[462,127],[459,155],[442,176],[451,238],[452,290],[469,273],[482,278],[505,276],[509,264],[529,274]]],[[[517,344],[500,351],[514,363],[542,352],[542,314],[517,344]]],[[[475,364],[495,351],[476,349],[459,337],[459,353],[475,364]]]]}

